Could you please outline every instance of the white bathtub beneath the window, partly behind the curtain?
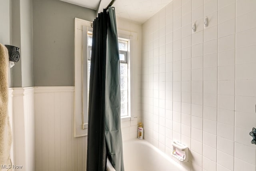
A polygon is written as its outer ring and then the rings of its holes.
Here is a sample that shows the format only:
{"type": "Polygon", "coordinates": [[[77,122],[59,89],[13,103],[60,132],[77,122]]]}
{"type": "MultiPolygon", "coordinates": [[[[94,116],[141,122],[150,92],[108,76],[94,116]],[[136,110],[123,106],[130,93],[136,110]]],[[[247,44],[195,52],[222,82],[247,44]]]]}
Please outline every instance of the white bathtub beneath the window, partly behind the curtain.
{"type": "MultiPolygon", "coordinates": [[[[145,140],[125,141],[123,150],[125,171],[186,171],[186,169],[145,140]]],[[[111,167],[111,163],[108,163],[107,171],[115,171],[111,167]]]]}

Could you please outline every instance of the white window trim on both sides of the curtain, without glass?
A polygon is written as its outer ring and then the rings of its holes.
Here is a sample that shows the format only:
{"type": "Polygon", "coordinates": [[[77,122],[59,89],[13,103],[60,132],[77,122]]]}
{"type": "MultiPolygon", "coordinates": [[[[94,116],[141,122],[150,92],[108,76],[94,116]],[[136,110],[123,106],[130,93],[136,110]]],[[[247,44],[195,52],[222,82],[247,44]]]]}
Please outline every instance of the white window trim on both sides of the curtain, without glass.
{"type": "MultiPolygon", "coordinates": [[[[82,20],[79,18],[75,18],[75,38],[74,38],[74,44],[75,44],[75,92],[74,92],[74,137],[82,137],[87,136],[87,125],[88,121],[86,120],[87,117],[87,107],[86,113],[82,112],[82,103],[84,103],[84,106],[87,106],[87,98],[86,101],[82,100],[82,82],[86,83],[87,85],[87,79],[82,79],[82,70],[87,70],[87,64],[82,66],[82,59],[83,55],[86,55],[87,59],[87,33],[92,32],[91,27],[92,22],[82,20]],[[86,34],[86,36],[85,36],[86,34]],[[83,40],[86,39],[86,40],[83,40]],[[83,42],[86,42],[84,44],[83,42]],[[86,114],[86,116],[85,116],[86,114]]],[[[132,49],[136,48],[136,41],[138,40],[138,34],[136,32],[129,32],[125,30],[119,30],[118,29],[118,38],[123,38],[125,40],[130,41],[130,46],[128,46],[128,52],[127,52],[127,63],[128,63],[128,92],[134,92],[136,88],[136,79],[130,79],[136,78],[135,75],[136,71],[135,67],[137,66],[135,64],[136,60],[134,58],[130,58],[130,56],[135,56],[135,50],[130,52],[130,48],[132,49]]],[[[86,72],[87,73],[87,72],[86,72]]],[[[87,92],[87,86],[86,90],[84,89],[84,92],[87,92]]],[[[121,121],[130,121],[132,113],[136,112],[133,111],[133,109],[136,109],[136,98],[137,94],[134,93],[128,93],[128,116],[124,116],[121,118],[121,121]]]]}

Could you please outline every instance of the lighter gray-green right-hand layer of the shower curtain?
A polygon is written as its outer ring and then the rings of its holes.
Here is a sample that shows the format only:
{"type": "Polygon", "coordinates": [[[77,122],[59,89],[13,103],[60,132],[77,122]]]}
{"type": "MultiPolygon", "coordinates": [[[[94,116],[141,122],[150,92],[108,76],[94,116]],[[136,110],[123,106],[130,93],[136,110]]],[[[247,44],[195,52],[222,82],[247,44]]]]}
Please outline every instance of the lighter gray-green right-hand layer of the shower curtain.
{"type": "Polygon", "coordinates": [[[116,29],[116,14],[114,7],[110,7],[108,10],[109,23],[106,54],[105,135],[110,162],[116,171],[124,171],[120,108],[120,61],[116,29]]]}

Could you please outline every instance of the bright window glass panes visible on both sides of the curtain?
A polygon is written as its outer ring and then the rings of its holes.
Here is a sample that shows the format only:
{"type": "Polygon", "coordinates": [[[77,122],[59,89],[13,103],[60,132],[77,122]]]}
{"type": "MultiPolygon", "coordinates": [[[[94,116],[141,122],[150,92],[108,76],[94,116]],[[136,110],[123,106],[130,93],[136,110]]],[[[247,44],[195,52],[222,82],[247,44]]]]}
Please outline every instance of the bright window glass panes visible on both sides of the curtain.
{"type": "MultiPolygon", "coordinates": [[[[121,117],[128,116],[128,45],[129,41],[125,39],[118,40],[119,58],[120,58],[120,89],[121,89],[121,117]]],[[[90,81],[90,60],[92,54],[92,34],[87,34],[87,94],[89,94],[90,81]]],[[[88,98],[88,97],[87,97],[88,98]]]]}

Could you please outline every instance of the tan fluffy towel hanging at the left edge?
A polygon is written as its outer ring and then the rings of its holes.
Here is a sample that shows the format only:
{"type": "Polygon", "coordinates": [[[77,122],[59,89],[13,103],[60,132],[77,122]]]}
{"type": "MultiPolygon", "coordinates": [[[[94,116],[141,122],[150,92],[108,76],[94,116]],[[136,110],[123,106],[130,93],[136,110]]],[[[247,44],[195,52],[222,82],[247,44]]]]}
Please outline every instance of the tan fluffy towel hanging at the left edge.
{"type": "Polygon", "coordinates": [[[0,170],[10,164],[12,130],[8,116],[8,50],[0,44],[0,170]]]}

